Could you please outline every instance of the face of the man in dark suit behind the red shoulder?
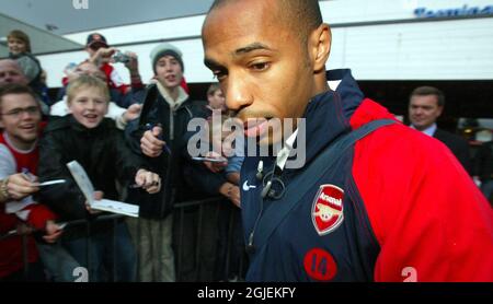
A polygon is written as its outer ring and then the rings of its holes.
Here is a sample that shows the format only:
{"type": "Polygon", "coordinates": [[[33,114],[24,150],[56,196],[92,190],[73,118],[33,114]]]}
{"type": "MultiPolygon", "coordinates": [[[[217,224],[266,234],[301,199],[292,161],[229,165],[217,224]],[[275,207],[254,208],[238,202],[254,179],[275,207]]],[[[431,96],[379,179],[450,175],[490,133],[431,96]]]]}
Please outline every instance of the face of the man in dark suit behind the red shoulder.
{"type": "Polygon", "coordinates": [[[412,96],[409,103],[409,119],[417,130],[424,130],[435,124],[442,115],[443,107],[438,106],[435,95],[412,96]]]}

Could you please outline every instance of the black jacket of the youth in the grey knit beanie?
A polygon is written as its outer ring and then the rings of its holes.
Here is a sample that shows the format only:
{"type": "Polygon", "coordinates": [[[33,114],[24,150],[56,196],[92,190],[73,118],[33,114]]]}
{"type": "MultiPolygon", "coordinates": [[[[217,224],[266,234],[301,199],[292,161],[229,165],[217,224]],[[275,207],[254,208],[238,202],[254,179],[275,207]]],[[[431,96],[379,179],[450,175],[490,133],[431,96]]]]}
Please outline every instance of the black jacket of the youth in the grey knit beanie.
{"type": "Polygon", "coordinates": [[[188,139],[195,133],[195,130],[187,131],[188,122],[193,118],[207,118],[208,115],[204,101],[188,98],[171,109],[156,85],[147,89],[140,118],[130,121],[125,133],[133,151],[142,155],[152,172],[160,174],[162,183],[158,195],[149,196],[138,189],[129,191],[128,200],[139,202],[140,217],[163,219],[170,214],[174,202],[204,198],[205,189],[208,189],[207,194],[217,194],[226,182],[200,163],[193,162],[187,152],[188,139]],[[157,124],[162,126],[162,140],[171,154],[164,150],[158,157],[147,157],[141,152],[140,139],[150,126],[157,124]],[[195,175],[194,178],[191,174],[195,175]]]}

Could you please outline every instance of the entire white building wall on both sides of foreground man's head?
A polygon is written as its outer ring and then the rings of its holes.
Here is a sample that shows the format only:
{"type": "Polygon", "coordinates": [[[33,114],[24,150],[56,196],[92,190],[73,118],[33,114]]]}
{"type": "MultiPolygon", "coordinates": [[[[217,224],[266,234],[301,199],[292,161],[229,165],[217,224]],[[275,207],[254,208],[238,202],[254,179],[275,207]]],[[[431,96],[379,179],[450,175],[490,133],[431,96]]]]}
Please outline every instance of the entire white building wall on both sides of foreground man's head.
{"type": "MultiPolygon", "coordinates": [[[[442,22],[397,23],[337,27],[357,23],[414,19],[419,7],[451,9],[485,7],[491,1],[458,0],[334,0],[321,2],[325,22],[333,28],[332,54],[328,68],[352,68],[359,80],[492,80],[493,17],[442,22]]],[[[204,15],[158,21],[147,24],[101,28],[110,44],[149,42],[154,39],[191,39],[172,42],[184,54],[188,82],[210,82],[213,77],[203,65],[199,39],[204,15]]],[[[227,21],[226,21],[227,22],[227,21]]],[[[89,33],[66,37],[85,44],[89,33]]],[[[122,47],[139,55],[140,72],[147,81],[152,77],[149,52],[156,43],[122,47]]],[[[68,62],[80,62],[83,51],[39,56],[48,70],[48,85],[60,86],[62,70],[68,62]]],[[[127,74],[122,65],[118,71],[127,74]]]]}

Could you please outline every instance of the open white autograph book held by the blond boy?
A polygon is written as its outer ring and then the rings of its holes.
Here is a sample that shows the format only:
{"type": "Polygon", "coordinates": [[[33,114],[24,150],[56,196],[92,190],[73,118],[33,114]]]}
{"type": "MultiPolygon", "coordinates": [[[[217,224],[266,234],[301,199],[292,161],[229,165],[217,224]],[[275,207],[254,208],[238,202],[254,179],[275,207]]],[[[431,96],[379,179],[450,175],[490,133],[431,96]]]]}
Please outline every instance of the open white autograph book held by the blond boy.
{"type": "Polygon", "coordinates": [[[89,179],[84,168],[77,161],[68,163],[67,166],[91,209],[125,214],[134,218],[139,217],[139,207],[137,204],[110,199],[94,200],[94,186],[92,186],[91,179],[89,179]]]}

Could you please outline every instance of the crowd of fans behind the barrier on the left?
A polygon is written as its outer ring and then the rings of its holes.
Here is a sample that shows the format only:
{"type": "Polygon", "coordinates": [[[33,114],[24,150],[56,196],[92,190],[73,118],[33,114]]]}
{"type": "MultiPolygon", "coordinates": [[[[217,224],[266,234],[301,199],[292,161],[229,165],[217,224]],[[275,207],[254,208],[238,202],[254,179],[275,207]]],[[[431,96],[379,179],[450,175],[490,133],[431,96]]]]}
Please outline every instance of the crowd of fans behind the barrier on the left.
{"type": "Polygon", "coordinates": [[[146,86],[137,55],[121,54],[94,33],[88,36],[88,59],[67,67],[53,101],[28,36],[12,31],[8,45],[10,56],[0,60],[1,281],[74,281],[78,267],[90,270],[90,281],[225,281],[242,276],[242,159],[213,167],[186,153],[193,135],[187,122],[210,120],[214,109],[226,114],[216,84],[209,103],[193,101],[181,50],[160,44],[150,54],[156,77],[146,86]],[[114,69],[115,60],[128,69],[130,84],[114,69]],[[162,149],[146,150],[146,140],[158,140],[162,149]],[[87,171],[94,198],[137,203],[139,218],[98,221],[106,212],[92,210],[81,195],[66,166],[73,160],[87,171]],[[39,186],[51,179],[66,183],[39,186]],[[218,199],[206,208],[173,209],[177,202],[210,197],[218,199]],[[78,220],[90,229],[65,224],[78,220]],[[11,231],[15,235],[5,236],[11,231]],[[236,248],[228,254],[232,236],[236,248]],[[197,257],[198,243],[205,249],[197,257]],[[226,255],[237,267],[223,265],[226,255]]]}

